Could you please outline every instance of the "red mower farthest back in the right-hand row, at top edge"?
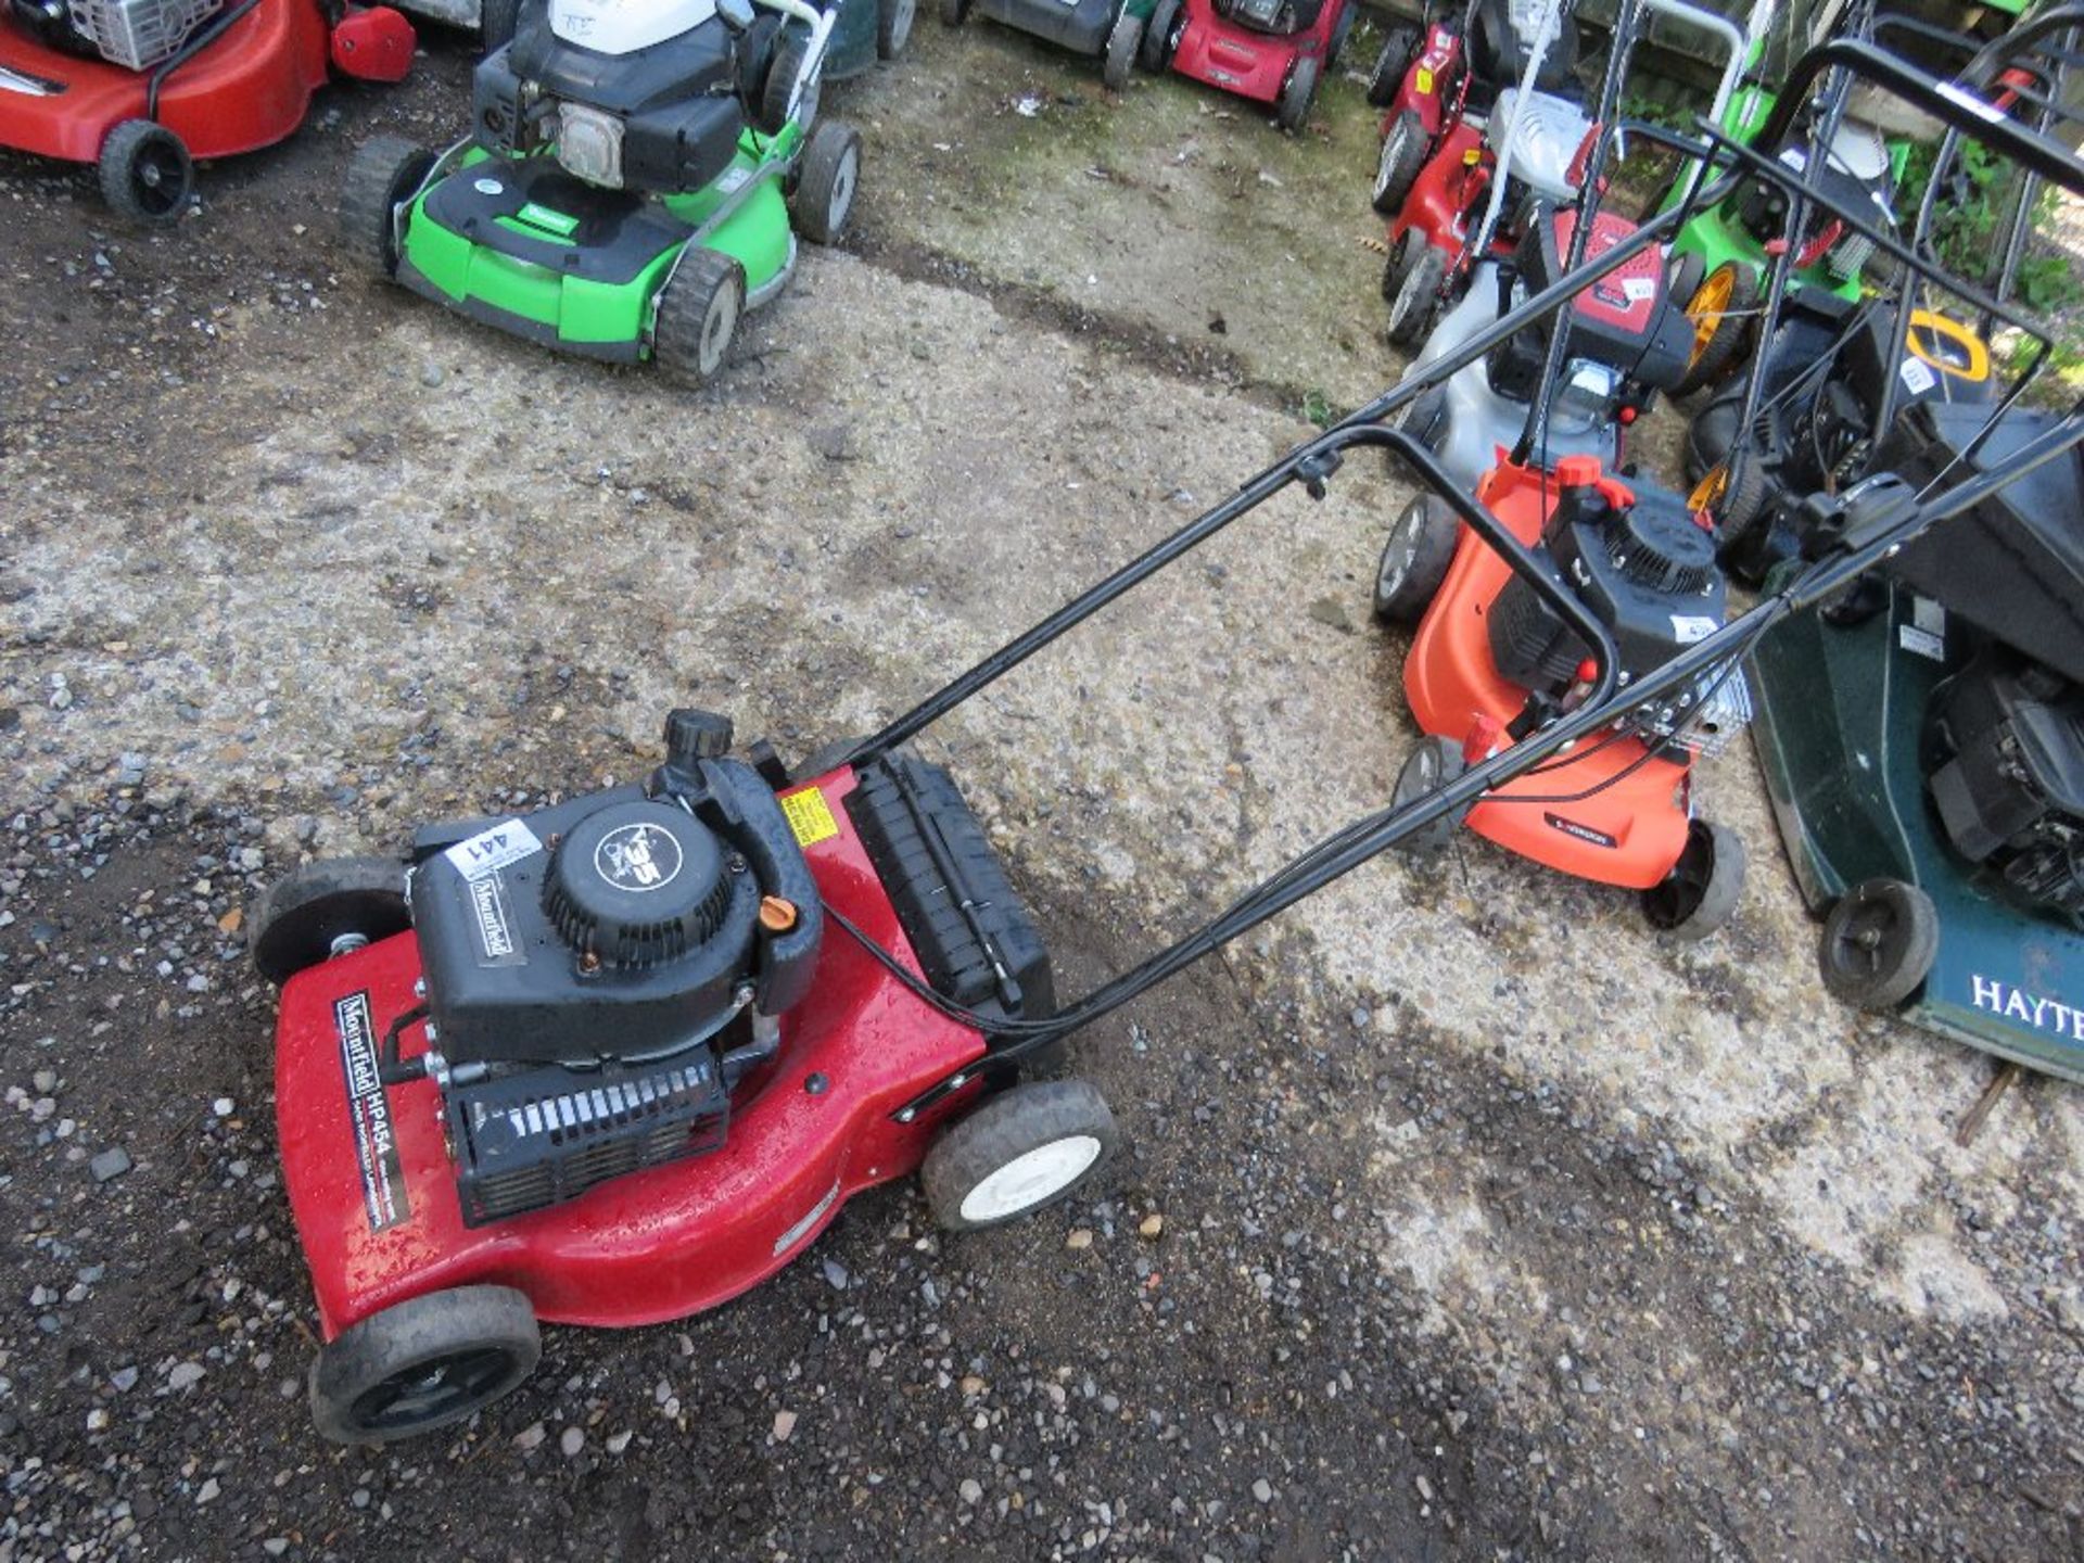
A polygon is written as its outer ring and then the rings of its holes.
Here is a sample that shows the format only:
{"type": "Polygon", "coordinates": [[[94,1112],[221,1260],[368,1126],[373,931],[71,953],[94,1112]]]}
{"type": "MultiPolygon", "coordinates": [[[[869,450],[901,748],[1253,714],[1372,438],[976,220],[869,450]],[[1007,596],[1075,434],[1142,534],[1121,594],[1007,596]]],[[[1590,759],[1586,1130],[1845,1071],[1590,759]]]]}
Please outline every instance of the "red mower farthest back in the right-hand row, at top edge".
{"type": "MultiPolygon", "coordinates": [[[[1473,0],[1459,17],[1428,13],[1423,33],[1390,29],[1367,79],[1367,102],[1382,108],[1382,152],[1369,194],[1382,217],[1403,210],[1419,171],[1448,140],[1455,146],[1442,173],[1482,146],[1498,90],[1525,71],[1542,10],[1536,0],[1473,0]]],[[[1576,71],[1578,23],[1561,17],[1532,79],[1538,90],[1561,94],[1571,90],[1576,71]]]]}

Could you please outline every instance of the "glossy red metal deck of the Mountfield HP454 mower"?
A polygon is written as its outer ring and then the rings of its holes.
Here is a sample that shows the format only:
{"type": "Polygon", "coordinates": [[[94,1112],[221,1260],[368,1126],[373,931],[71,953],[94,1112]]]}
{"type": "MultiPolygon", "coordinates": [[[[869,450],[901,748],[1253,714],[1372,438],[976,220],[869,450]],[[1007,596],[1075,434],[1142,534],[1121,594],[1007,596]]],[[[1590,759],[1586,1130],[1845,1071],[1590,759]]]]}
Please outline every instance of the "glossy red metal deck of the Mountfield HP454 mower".
{"type": "MultiPolygon", "coordinates": [[[[844,798],[850,769],[782,798],[825,902],[921,973],[844,798]]],[[[377,1084],[386,1027],[417,1002],[415,934],[294,975],[275,1034],[283,1182],[325,1338],[413,1296],[469,1284],[527,1294],[546,1321],[642,1325],[738,1296],[782,1269],[863,1188],[911,1173],[975,1084],[896,1113],[984,1055],[979,1032],[827,938],[811,994],[782,1017],[777,1073],[734,1109],[719,1150],[469,1227],[433,1082],[377,1084]]],[[[425,1050],[423,1027],[400,1038],[425,1050]]],[[[573,1073],[586,1094],[586,1073],[573,1073]]]]}

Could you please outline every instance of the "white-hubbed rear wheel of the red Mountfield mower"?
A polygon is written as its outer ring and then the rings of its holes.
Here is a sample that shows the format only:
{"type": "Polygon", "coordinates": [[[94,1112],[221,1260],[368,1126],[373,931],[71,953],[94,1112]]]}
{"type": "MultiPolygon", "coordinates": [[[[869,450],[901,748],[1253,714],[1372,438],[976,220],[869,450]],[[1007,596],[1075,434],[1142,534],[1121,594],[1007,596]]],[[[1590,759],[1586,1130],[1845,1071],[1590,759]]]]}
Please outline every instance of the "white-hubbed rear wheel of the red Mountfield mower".
{"type": "Polygon", "coordinates": [[[948,1232],[1032,1215],[1090,1184],[1121,1134],[1086,1080],[1029,1080],[950,1123],[919,1169],[927,1209],[948,1232]]]}

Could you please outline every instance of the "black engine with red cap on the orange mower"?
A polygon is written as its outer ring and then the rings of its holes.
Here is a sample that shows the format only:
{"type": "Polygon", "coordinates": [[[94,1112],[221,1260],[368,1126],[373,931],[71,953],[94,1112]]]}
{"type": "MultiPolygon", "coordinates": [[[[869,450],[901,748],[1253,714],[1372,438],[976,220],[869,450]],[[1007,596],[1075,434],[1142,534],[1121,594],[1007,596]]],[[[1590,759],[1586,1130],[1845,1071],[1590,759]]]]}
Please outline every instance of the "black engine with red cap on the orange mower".
{"type": "MultiPolygon", "coordinates": [[[[1623,681],[1721,627],[1728,588],[1715,540],[1678,496],[1603,477],[1590,456],[1565,456],[1555,479],[1557,504],[1534,556],[1611,631],[1623,681]]],[[[1498,673],[1530,696],[1528,727],[1567,711],[1588,688],[1592,648],[1519,575],[1498,592],[1486,625],[1498,673]]],[[[1748,715],[1742,677],[1732,673],[1644,713],[1644,729],[1705,750],[1726,744],[1748,715]]]]}

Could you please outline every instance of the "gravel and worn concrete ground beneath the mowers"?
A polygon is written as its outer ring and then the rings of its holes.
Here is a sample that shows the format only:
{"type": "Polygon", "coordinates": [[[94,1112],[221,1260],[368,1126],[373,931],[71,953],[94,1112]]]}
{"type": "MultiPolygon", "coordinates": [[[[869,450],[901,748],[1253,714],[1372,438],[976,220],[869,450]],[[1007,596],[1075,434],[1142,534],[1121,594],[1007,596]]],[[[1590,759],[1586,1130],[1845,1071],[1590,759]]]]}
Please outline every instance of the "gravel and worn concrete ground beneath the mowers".
{"type": "MultiPolygon", "coordinates": [[[[673,702],[861,731],[1396,369],[1353,81],[1288,140],[921,27],[834,94],[861,231],[690,398],[336,271],[350,146],[465,79],[331,92],[173,235],[0,160],[0,1559],[2084,1553],[2084,1113],[1955,1146],[1988,1065],[1821,996],[1744,748],[1705,946],[1371,865],[1082,1038],[1098,1198],[882,1190],[454,1436],[317,1440],[258,886],[636,775],[673,702]]],[[[1350,463],[929,738],[1061,988],[1388,792],[1400,500],[1350,463]]]]}

